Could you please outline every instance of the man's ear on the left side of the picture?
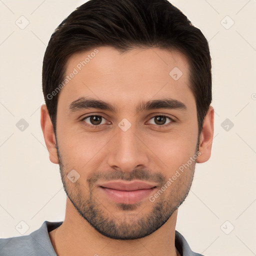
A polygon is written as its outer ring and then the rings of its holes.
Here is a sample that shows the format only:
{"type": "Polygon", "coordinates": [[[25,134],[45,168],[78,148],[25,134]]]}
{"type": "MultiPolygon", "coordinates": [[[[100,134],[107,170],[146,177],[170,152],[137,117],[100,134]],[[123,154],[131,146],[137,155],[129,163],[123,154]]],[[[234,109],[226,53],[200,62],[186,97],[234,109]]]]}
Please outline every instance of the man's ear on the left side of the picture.
{"type": "Polygon", "coordinates": [[[41,128],[46,147],[49,152],[50,161],[58,163],[57,149],[55,146],[56,139],[53,132],[53,126],[50,120],[48,109],[45,104],[41,105],[41,128]]]}

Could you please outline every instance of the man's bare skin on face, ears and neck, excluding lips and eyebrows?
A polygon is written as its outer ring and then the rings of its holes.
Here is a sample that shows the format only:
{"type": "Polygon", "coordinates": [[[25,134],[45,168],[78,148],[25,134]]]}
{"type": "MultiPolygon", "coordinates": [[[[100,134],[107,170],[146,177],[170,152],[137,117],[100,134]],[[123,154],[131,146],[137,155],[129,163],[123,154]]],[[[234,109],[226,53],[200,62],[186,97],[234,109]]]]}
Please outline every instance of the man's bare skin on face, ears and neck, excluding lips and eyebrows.
{"type": "MultiPolygon", "coordinates": [[[[65,219],[49,232],[53,248],[58,256],[179,255],[174,244],[177,209],[190,189],[195,162],[210,157],[213,108],[209,106],[204,118],[197,147],[196,104],[182,53],[160,48],[134,48],[122,54],[113,47],[97,49],[59,92],[57,138],[47,108],[41,106],[49,158],[59,164],[67,193],[65,219]],[[176,81],[169,75],[173,67],[183,73],[176,81]],[[81,96],[107,101],[118,111],[89,108],[71,113],[69,104],[81,96]],[[164,97],[183,102],[187,109],[136,113],[142,100],[164,97]],[[84,125],[96,123],[90,118],[81,120],[90,114],[103,117],[96,128],[84,125]],[[173,121],[166,118],[161,124],[156,117],[163,114],[173,121]],[[118,126],[123,118],[131,124],[126,131],[118,126]],[[98,187],[107,180],[136,179],[155,183],[158,190],[197,150],[197,159],[153,202],[147,196],[137,203],[118,204],[98,187]],[[80,175],[74,183],[67,178],[72,169],[80,175]]],[[[90,52],[73,54],[65,74],[90,52]]]]}

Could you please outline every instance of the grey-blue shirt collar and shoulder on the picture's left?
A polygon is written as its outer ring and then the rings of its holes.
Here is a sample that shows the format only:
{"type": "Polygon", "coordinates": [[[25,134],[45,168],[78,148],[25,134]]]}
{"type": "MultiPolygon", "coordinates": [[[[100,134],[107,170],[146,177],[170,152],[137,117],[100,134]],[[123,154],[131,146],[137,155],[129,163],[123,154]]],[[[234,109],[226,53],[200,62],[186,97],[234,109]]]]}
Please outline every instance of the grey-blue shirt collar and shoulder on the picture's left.
{"type": "Polygon", "coordinates": [[[28,235],[1,238],[0,255],[1,256],[24,256],[24,255],[42,255],[55,256],[55,251],[51,245],[48,231],[62,222],[44,221],[41,227],[28,235]]]}

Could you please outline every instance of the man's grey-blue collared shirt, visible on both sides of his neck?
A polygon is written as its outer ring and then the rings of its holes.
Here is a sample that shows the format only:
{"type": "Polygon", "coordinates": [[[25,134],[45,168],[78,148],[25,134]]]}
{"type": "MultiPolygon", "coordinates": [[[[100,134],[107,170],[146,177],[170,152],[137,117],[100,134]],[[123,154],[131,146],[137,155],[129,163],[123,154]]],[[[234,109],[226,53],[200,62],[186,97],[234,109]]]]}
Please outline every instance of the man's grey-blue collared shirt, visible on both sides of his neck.
{"type": "MultiPolygon", "coordinates": [[[[41,227],[28,235],[0,239],[0,256],[57,256],[48,232],[62,224],[44,221],[41,227]]],[[[175,247],[181,256],[203,256],[193,252],[185,238],[175,230],[175,247]]]]}

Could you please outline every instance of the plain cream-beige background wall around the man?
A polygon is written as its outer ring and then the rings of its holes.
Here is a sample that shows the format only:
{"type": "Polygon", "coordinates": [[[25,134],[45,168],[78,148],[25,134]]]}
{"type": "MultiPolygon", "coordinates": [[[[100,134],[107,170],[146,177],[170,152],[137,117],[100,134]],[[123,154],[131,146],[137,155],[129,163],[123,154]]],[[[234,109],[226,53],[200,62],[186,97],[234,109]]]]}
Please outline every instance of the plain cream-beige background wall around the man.
{"type": "MultiPolygon", "coordinates": [[[[83,2],[0,0],[0,237],[64,218],[59,168],[40,127],[41,67],[51,33],[83,2]],[[15,23],[21,15],[24,29],[15,23]],[[29,125],[23,131],[21,118],[29,125]]],[[[171,2],[209,41],[215,109],[212,155],[196,165],[176,229],[204,255],[256,255],[256,1],[171,2]],[[227,131],[226,118],[234,124],[227,131]]]]}

